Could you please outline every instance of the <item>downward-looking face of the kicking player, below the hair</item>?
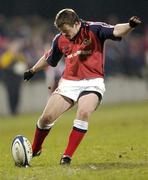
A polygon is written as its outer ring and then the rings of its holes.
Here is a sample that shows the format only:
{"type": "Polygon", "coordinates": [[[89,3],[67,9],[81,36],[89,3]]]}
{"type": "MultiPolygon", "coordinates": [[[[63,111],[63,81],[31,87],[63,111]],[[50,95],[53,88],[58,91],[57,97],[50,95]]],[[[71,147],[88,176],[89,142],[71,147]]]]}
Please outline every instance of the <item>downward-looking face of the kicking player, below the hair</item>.
{"type": "Polygon", "coordinates": [[[78,22],[76,22],[73,26],[70,26],[69,24],[64,24],[60,28],[60,31],[66,38],[72,39],[78,33],[80,26],[81,24],[78,22]]]}

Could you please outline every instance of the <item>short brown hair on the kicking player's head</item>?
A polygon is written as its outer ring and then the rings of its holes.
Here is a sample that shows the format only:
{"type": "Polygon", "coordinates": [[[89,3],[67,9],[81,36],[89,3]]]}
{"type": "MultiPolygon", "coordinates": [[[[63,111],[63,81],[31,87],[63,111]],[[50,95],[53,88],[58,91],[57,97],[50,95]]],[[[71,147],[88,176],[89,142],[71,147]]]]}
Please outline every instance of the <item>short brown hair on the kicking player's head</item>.
{"type": "Polygon", "coordinates": [[[62,27],[64,24],[73,26],[76,22],[79,22],[80,18],[73,9],[62,9],[55,17],[54,25],[57,28],[62,27]]]}

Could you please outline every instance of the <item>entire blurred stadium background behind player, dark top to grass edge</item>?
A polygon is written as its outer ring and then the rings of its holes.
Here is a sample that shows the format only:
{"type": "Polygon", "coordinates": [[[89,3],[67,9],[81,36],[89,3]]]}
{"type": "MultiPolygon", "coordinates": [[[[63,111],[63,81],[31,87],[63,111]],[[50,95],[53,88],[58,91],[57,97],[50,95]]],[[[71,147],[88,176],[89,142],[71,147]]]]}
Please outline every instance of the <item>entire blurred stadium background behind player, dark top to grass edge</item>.
{"type": "Polygon", "coordinates": [[[50,68],[38,73],[28,84],[23,82],[23,70],[31,67],[50,48],[57,32],[53,26],[54,16],[66,7],[74,8],[82,19],[111,24],[127,22],[132,15],[142,19],[142,25],[122,42],[106,43],[104,102],[148,99],[147,0],[1,0],[0,3],[0,114],[34,112],[43,108],[50,94],[47,86],[52,90],[56,86],[63,61],[55,70],[50,68]],[[12,71],[16,73],[13,77],[12,71]]]}

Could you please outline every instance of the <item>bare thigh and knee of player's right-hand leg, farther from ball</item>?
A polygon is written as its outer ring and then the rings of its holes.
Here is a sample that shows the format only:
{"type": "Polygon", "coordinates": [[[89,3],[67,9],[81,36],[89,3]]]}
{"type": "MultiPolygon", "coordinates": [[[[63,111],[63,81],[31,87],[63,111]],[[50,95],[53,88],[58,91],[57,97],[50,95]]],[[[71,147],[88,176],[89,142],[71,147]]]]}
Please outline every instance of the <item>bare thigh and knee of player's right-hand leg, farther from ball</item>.
{"type": "Polygon", "coordinates": [[[85,118],[87,119],[91,113],[96,110],[99,104],[99,97],[95,93],[89,93],[81,96],[78,100],[77,118],[86,116],[85,118]]]}

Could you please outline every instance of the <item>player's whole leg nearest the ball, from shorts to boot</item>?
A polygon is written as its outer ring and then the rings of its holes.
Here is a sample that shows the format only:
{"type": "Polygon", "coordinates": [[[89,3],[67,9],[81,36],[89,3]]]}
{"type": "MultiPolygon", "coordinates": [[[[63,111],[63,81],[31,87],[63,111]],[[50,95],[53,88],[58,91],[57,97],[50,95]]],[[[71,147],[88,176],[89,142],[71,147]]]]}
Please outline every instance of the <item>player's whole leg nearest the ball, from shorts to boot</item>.
{"type": "Polygon", "coordinates": [[[72,106],[73,102],[70,99],[59,94],[53,94],[49,98],[47,105],[37,122],[32,144],[33,156],[40,154],[43,141],[54,125],[54,121],[72,106]]]}

